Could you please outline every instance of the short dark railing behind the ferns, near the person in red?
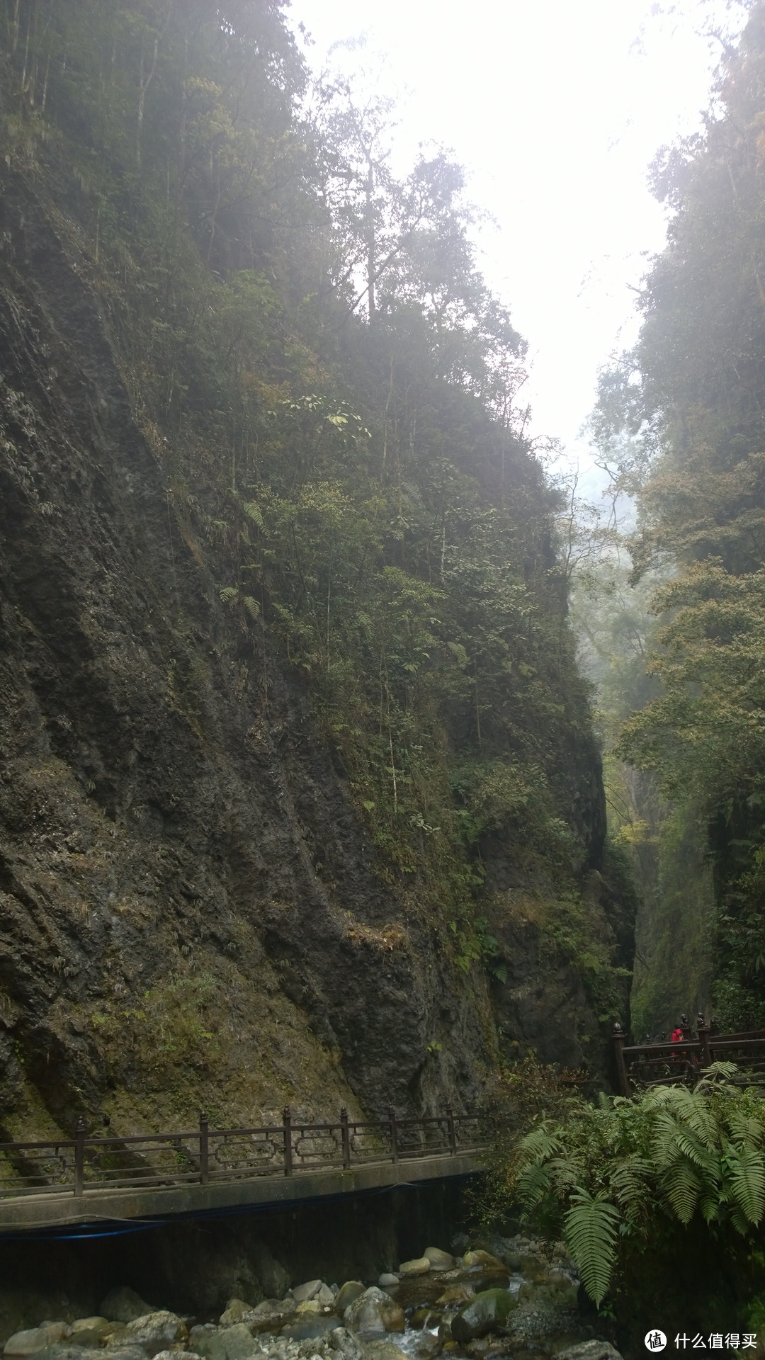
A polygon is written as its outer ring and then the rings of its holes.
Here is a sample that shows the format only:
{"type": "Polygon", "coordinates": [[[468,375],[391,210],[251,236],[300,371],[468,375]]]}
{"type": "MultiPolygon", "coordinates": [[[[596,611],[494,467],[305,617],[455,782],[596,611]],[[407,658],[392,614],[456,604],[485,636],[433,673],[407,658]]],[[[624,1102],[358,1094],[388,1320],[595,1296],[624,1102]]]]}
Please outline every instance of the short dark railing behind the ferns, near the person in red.
{"type": "Polygon", "coordinates": [[[696,1017],[696,1030],[685,1016],[679,1028],[683,1036],[674,1043],[628,1044],[621,1024],[614,1025],[617,1080],[622,1095],[678,1081],[694,1085],[704,1068],[723,1059],[738,1064],[746,1072],[765,1073],[765,1030],[712,1034],[701,1013],[696,1017]]]}

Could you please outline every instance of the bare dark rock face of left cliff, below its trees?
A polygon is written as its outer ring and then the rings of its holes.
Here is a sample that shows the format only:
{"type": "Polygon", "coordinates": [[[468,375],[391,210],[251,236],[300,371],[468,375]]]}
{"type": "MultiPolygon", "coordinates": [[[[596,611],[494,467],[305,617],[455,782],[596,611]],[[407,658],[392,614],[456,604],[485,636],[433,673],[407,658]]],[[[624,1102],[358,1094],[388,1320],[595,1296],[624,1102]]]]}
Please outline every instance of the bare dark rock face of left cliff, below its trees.
{"type": "Polygon", "coordinates": [[[1,214],[0,1137],[472,1104],[485,975],[374,872],[267,630],[249,683],[71,239],[11,174],[1,214]]]}

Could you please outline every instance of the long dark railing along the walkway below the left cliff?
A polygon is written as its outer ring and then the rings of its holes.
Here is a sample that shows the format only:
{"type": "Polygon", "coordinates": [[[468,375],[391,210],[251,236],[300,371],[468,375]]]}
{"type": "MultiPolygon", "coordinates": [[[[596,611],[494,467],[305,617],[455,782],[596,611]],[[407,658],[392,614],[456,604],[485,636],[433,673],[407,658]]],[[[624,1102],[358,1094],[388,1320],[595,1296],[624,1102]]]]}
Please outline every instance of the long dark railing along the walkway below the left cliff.
{"type": "Polygon", "coordinates": [[[287,1106],[279,1125],[211,1129],[201,1114],[189,1133],[120,1138],[94,1138],[80,1119],[74,1138],[0,1142],[0,1198],[348,1171],[372,1161],[456,1156],[479,1142],[478,1115],[449,1108],[426,1119],[389,1110],[385,1119],[361,1121],[340,1110],[336,1123],[293,1123],[287,1106]]]}

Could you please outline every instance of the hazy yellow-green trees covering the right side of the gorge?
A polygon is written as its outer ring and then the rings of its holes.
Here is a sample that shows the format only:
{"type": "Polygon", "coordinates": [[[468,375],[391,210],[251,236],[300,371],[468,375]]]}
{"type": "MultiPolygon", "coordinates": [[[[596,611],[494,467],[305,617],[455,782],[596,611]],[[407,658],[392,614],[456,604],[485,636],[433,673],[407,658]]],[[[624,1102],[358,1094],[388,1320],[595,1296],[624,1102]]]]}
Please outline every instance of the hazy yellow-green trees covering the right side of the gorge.
{"type": "Polygon", "coordinates": [[[660,692],[618,751],[701,819],[724,1023],[765,1021],[765,5],[724,60],[704,132],[664,150],[668,243],[636,348],[603,374],[593,428],[637,492],[633,579],[659,570],[660,692]]]}

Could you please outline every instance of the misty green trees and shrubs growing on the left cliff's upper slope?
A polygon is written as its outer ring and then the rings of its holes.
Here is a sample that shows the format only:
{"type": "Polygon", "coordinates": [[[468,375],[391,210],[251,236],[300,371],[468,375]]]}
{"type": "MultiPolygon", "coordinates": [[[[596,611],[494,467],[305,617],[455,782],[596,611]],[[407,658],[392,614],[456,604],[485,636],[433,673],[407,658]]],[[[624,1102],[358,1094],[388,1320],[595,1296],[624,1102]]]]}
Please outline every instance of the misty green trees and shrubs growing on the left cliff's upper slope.
{"type": "Polygon", "coordinates": [[[572,902],[603,820],[525,345],[460,166],[396,178],[385,102],[312,83],[272,0],[7,0],[0,30],[3,154],[76,224],[237,660],[267,699],[282,649],[381,872],[493,966],[485,838],[572,902]]]}

